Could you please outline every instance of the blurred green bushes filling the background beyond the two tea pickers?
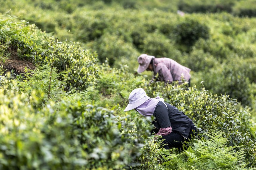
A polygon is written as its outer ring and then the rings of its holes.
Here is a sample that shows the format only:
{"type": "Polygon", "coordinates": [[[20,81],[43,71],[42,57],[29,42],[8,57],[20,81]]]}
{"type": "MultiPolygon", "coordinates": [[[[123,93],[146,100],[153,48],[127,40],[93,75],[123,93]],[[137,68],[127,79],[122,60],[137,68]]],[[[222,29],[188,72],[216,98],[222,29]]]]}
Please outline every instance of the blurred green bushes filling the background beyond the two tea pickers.
{"type": "Polygon", "coordinates": [[[235,13],[254,11],[255,1],[165,3],[3,1],[0,11],[35,23],[62,42],[80,42],[82,48],[96,51],[100,62],[108,58],[111,66],[127,64],[132,72],[141,53],[172,58],[192,69],[192,84],[200,86],[204,80],[214,94],[230,95],[255,109],[256,20],[235,13]],[[222,10],[213,10],[216,7],[222,10]],[[200,13],[180,16],[177,9],[200,13]],[[221,11],[230,13],[203,13],[221,11]]]}

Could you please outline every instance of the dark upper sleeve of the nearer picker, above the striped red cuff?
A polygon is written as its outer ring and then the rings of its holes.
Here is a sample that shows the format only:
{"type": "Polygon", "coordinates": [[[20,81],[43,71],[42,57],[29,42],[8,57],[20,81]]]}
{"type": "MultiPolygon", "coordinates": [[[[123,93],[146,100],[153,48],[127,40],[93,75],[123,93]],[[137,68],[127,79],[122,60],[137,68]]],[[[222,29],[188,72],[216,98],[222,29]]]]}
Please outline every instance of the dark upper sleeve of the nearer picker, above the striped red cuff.
{"type": "Polygon", "coordinates": [[[160,125],[160,128],[166,128],[171,126],[169,113],[164,104],[163,105],[159,103],[157,104],[154,111],[154,116],[156,117],[157,122],[160,125]]]}

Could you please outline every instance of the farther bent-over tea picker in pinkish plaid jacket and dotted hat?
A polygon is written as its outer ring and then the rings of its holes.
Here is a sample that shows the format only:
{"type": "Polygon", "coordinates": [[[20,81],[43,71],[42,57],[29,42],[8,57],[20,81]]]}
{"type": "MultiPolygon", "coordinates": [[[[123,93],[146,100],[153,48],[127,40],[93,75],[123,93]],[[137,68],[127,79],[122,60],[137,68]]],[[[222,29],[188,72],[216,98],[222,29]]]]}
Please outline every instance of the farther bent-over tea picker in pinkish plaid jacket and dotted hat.
{"type": "Polygon", "coordinates": [[[141,54],[138,57],[139,67],[137,72],[142,73],[143,71],[153,71],[154,75],[158,73],[158,80],[166,83],[172,83],[178,81],[179,84],[182,77],[188,81],[190,86],[190,74],[191,69],[177,63],[173,59],[169,58],[155,58],[147,54],[141,54]]]}

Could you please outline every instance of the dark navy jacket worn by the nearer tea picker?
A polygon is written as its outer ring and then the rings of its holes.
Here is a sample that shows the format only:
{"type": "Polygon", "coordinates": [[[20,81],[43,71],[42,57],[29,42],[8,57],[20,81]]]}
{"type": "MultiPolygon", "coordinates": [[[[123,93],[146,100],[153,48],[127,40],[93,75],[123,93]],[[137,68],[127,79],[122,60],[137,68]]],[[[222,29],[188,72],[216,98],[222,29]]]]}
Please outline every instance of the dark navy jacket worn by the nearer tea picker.
{"type": "Polygon", "coordinates": [[[153,113],[153,116],[156,117],[156,119],[153,120],[155,126],[155,129],[153,129],[154,132],[157,133],[160,128],[171,126],[172,131],[178,131],[184,138],[188,138],[192,120],[176,107],[168,103],[165,104],[159,101],[155,107],[153,113]]]}

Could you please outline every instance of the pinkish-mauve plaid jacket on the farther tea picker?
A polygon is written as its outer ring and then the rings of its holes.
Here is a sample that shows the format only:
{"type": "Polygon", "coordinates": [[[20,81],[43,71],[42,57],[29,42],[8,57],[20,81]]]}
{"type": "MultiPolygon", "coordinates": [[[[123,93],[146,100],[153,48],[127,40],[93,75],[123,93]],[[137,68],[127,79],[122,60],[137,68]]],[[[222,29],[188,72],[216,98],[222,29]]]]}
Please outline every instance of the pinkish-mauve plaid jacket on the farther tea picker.
{"type": "Polygon", "coordinates": [[[154,75],[157,75],[160,81],[171,83],[172,81],[180,81],[182,77],[185,80],[190,79],[189,72],[191,69],[185,67],[173,59],[169,58],[154,58],[153,59],[154,75]]]}

